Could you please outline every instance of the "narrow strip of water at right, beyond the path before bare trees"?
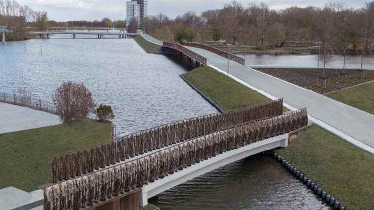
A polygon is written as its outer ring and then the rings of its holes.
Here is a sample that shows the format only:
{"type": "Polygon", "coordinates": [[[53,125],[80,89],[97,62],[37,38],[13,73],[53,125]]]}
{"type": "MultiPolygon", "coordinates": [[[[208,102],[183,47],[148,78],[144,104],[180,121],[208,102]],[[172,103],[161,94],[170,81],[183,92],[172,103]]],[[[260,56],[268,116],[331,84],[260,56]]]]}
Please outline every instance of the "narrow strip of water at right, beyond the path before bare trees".
{"type": "MultiPolygon", "coordinates": [[[[318,67],[318,55],[239,55],[246,59],[248,66],[276,66],[276,67],[318,67]]],[[[343,56],[331,56],[328,68],[343,68],[343,56]]],[[[322,63],[319,64],[323,66],[322,63]]],[[[347,56],[346,68],[359,69],[361,56],[347,56]]],[[[365,56],[363,68],[374,70],[374,56],[365,56]]]]}

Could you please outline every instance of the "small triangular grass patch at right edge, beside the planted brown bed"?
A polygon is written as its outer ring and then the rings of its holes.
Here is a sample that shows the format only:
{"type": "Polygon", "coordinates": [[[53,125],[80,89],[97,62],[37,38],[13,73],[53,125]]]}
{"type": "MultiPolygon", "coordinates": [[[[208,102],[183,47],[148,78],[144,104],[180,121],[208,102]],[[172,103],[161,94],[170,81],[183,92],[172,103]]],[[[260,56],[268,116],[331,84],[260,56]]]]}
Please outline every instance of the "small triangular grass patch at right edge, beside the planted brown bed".
{"type": "Polygon", "coordinates": [[[326,96],[374,115],[374,82],[339,90],[326,96]]]}

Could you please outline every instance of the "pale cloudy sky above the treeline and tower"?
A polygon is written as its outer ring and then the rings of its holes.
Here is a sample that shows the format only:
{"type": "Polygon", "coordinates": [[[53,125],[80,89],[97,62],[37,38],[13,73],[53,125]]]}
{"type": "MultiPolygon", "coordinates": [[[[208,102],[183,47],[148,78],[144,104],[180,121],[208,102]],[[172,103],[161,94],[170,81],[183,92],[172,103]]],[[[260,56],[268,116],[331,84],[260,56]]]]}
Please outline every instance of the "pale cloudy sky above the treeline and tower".
{"type": "MultiPolygon", "coordinates": [[[[50,20],[101,20],[108,17],[113,20],[125,19],[126,0],[18,0],[33,10],[48,12],[50,20]]],[[[208,9],[222,8],[230,0],[149,0],[149,14],[164,13],[176,17],[186,11],[200,13],[208,9]]],[[[289,6],[323,6],[326,2],[337,0],[238,0],[247,5],[251,2],[265,2],[272,9],[289,6]]],[[[361,8],[369,0],[339,0],[348,7],[361,8]]]]}

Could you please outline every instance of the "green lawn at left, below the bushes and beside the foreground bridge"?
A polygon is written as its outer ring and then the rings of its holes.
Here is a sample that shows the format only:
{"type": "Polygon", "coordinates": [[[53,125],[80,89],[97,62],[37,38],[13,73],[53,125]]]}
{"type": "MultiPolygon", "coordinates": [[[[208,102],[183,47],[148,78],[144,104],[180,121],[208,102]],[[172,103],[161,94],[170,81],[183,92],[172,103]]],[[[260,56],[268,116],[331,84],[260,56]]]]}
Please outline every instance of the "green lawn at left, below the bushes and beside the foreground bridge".
{"type": "Polygon", "coordinates": [[[31,192],[52,182],[51,157],[110,140],[111,123],[84,120],[0,134],[0,189],[31,192]]]}

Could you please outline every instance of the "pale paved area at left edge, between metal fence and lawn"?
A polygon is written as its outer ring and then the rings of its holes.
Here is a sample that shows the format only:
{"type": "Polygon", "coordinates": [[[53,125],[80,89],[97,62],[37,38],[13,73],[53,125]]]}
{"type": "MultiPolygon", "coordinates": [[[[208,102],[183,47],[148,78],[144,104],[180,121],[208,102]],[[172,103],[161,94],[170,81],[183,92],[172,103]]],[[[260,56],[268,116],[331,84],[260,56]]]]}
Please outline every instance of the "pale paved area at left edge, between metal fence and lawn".
{"type": "Polygon", "coordinates": [[[27,107],[0,103],[0,134],[61,124],[59,117],[27,107]]]}

